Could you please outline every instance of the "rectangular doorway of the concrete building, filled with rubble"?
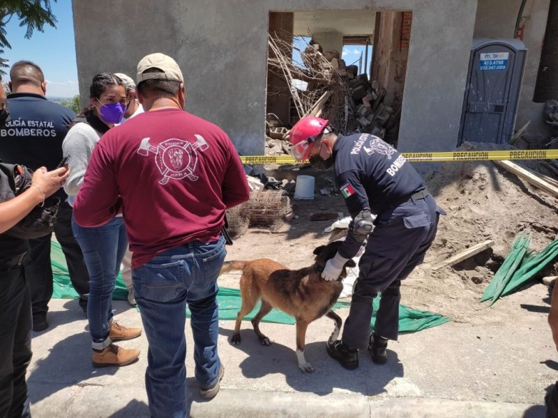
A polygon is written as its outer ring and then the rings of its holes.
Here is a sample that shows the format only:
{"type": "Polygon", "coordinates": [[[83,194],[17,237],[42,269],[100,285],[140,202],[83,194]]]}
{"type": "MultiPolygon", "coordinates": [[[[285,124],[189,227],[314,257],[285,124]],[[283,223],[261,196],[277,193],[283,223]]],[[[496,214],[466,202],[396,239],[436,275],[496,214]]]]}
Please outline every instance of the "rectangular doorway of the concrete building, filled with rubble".
{"type": "Polygon", "coordinates": [[[396,145],[411,25],[406,11],[271,12],[266,135],[276,142],[266,153],[286,152],[287,132],[308,115],[396,145]]]}

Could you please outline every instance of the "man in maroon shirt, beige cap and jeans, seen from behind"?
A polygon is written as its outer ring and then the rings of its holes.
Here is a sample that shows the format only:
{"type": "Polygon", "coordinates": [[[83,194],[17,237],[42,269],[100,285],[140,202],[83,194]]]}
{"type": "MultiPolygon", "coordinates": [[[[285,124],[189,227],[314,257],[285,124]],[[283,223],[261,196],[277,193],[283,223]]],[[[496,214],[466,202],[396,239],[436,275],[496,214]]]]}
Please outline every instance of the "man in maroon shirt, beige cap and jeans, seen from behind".
{"type": "Polygon", "coordinates": [[[154,417],[187,417],[186,304],[200,392],[219,391],[217,277],[225,259],[225,209],[248,200],[238,153],[219,127],[183,110],[174,59],[137,65],[145,113],[108,131],[91,155],[74,203],[81,226],[120,211],[133,251],[135,297],[149,343],[146,391],[154,417]]]}

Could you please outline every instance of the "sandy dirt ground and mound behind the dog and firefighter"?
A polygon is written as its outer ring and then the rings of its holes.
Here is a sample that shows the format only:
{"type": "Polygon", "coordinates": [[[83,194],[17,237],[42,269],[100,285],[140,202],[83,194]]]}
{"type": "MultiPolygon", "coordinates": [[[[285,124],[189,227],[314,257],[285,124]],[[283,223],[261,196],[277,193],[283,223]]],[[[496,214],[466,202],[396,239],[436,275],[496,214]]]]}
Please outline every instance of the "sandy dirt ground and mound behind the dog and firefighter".
{"type": "MultiPolygon", "coordinates": [[[[464,149],[490,148],[490,144],[465,144],[464,149]]],[[[553,176],[540,162],[522,162],[531,169],[553,176]]],[[[312,175],[303,170],[300,173],[312,175]]],[[[301,268],[312,263],[312,250],[329,240],[324,229],[333,221],[312,221],[310,215],[347,210],[333,187],[333,173],[319,176],[316,171],[315,199],[296,201],[290,194],[294,212],[278,229],[250,229],[227,247],[227,260],[273,258],[288,268],[301,268]],[[329,189],[331,195],[322,195],[329,189]]],[[[493,162],[447,162],[425,179],[430,192],[447,215],[440,220],[437,238],[426,254],[425,263],[407,278],[402,287],[402,303],[416,309],[434,311],[459,323],[513,326],[525,315],[517,304],[506,298],[495,309],[484,309],[479,302],[485,287],[504,261],[515,237],[531,233],[533,251],[541,251],[556,238],[558,232],[558,199],[524,183],[493,162]],[[494,240],[495,245],[462,263],[434,271],[431,266],[460,251],[494,240]]],[[[540,283],[543,276],[558,274],[556,263],[550,263],[528,286],[540,283]]],[[[227,274],[220,280],[224,286],[237,286],[238,274],[227,274]]],[[[548,307],[550,299],[541,300],[548,307]]]]}

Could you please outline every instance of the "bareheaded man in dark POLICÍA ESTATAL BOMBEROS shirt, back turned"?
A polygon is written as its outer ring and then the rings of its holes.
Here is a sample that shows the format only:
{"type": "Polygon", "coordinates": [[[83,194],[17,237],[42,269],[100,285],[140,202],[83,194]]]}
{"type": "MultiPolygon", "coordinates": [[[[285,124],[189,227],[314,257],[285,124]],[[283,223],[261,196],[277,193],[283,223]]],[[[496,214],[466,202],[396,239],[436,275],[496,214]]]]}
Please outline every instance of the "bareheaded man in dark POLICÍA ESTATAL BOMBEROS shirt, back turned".
{"type": "MultiPolygon", "coordinates": [[[[0,129],[0,160],[22,164],[35,170],[45,166],[55,169],[62,160],[62,141],[75,113],[67,107],[45,98],[46,82],[43,71],[30,61],[18,61],[10,69],[10,121],[0,129]]],[[[61,199],[58,221],[54,229],[60,243],[70,280],[80,295],[80,307],[86,312],[89,275],[82,250],[72,233],[72,208],[66,202],[63,189],[56,192],[61,199]]],[[[31,288],[33,331],[47,329],[48,302],[52,297],[52,268],[50,240],[47,235],[29,240],[24,262],[25,275],[31,288]]]]}

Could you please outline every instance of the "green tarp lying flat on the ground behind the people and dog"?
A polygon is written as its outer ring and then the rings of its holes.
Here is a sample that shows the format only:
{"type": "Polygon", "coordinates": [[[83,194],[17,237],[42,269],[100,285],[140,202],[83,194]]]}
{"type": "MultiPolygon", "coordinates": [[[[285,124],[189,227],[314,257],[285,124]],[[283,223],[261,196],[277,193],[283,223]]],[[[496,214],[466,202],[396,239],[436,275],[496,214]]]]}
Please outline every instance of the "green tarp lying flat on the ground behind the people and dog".
{"type": "MultiPolygon", "coordinates": [[[[68,275],[68,268],[66,268],[66,259],[60,249],[58,242],[52,241],[52,274],[54,276],[54,292],[52,297],[58,299],[75,299],[78,297],[68,275]]],[[[114,289],[113,298],[116,300],[126,300],[128,292],[126,291],[126,284],[122,281],[121,276],[116,279],[116,288],[114,289]]],[[[242,299],[240,291],[232,288],[220,288],[217,295],[217,302],[219,305],[219,319],[220,320],[236,320],[236,314],[240,310],[242,299]]],[[[350,302],[337,302],[333,309],[348,308],[350,302]]],[[[374,313],[377,312],[379,306],[379,298],[374,300],[374,313]]],[[[255,309],[248,314],[244,320],[252,319],[259,309],[259,304],[255,309]]],[[[190,316],[188,309],[186,315],[190,316]]],[[[294,318],[289,316],[278,309],[273,309],[263,319],[264,322],[279,323],[279,324],[294,324],[294,318]]],[[[375,323],[376,316],[372,318],[370,327],[375,323]]],[[[450,318],[442,315],[432,314],[428,311],[418,311],[416,309],[409,309],[403,305],[399,309],[399,330],[400,332],[416,332],[426,330],[427,328],[442,325],[448,322],[450,318]]]]}

